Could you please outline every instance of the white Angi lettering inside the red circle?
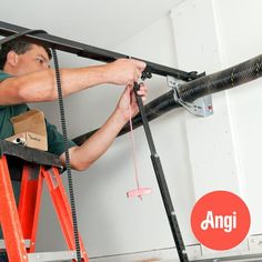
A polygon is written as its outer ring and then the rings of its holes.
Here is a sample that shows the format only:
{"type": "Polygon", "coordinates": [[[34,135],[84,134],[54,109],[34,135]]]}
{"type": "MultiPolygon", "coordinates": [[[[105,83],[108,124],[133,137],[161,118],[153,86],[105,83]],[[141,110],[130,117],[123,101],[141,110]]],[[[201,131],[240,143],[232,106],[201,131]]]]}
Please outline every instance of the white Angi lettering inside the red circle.
{"type": "Polygon", "coordinates": [[[224,232],[230,233],[232,229],[236,229],[236,212],[232,215],[213,215],[212,211],[208,211],[205,220],[201,222],[201,229],[222,229],[224,232]]]}

